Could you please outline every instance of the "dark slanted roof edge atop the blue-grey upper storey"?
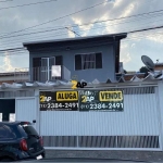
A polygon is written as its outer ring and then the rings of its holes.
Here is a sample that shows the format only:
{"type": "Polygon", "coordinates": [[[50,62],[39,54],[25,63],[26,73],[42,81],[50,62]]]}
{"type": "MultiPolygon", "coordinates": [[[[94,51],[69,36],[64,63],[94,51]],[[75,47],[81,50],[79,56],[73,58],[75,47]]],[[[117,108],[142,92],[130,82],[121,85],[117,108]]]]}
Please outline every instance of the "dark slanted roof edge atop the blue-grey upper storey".
{"type": "Polygon", "coordinates": [[[100,38],[123,39],[126,37],[127,37],[127,33],[121,33],[121,34],[97,35],[97,36],[53,39],[53,40],[43,40],[43,41],[30,41],[30,42],[23,42],[23,46],[27,47],[29,45],[40,45],[40,43],[49,43],[49,42],[68,42],[68,41],[79,41],[79,40],[93,40],[93,39],[100,39],[100,38]]]}

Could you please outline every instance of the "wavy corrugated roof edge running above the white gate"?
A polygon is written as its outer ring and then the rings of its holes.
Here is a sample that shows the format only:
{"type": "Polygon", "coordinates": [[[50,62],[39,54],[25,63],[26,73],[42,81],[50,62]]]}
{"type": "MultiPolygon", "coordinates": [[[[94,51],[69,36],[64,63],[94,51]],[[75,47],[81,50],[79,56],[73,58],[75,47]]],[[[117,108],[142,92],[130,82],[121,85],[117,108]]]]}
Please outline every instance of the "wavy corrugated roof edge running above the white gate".
{"type": "MultiPolygon", "coordinates": [[[[145,78],[139,78],[137,75],[134,75],[130,80],[125,80],[124,76],[120,77],[117,82],[112,82],[111,79],[108,79],[105,83],[100,83],[98,79],[92,80],[91,83],[87,83],[86,80],[82,79],[80,82],[86,82],[88,88],[98,88],[98,87],[116,87],[116,85],[136,85],[136,83],[155,83],[158,80],[163,80],[163,75],[161,74],[159,77],[154,78],[154,76],[149,73],[149,75],[145,78]]],[[[65,82],[65,80],[55,80],[55,82],[24,82],[24,83],[13,83],[8,84],[3,83],[0,85],[0,90],[8,90],[8,89],[25,89],[25,88],[32,88],[32,89],[72,89],[72,82],[65,82]]]]}

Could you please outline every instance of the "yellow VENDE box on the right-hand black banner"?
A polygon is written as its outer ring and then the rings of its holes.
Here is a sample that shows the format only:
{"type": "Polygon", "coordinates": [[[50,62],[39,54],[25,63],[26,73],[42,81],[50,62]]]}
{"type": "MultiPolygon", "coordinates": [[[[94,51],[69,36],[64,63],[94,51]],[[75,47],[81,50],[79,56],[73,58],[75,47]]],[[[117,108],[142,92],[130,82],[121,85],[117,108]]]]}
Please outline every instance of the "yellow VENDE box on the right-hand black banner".
{"type": "Polygon", "coordinates": [[[100,91],[99,100],[100,101],[122,101],[123,92],[122,91],[100,91]]]}

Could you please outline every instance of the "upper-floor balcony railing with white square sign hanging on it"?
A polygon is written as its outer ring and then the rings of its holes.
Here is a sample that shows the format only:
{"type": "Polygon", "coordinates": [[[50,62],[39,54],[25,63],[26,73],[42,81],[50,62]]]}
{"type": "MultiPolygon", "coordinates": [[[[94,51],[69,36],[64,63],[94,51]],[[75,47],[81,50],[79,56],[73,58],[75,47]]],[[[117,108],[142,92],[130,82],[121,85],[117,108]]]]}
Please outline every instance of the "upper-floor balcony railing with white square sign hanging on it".
{"type": "Polygon", "coordinates": [[[71,72],[63,65],[41,66],[32,68],[16,68],[14,72],[15,82],[53,82],[55,79],[71,79],[71,72]]]}

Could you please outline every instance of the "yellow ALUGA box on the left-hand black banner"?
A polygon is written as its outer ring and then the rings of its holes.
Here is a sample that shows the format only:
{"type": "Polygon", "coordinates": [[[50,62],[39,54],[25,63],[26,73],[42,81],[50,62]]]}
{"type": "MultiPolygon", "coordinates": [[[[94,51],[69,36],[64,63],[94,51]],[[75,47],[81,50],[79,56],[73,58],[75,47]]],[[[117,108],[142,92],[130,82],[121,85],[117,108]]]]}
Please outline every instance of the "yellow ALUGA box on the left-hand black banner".
{"type": "Polygon", "coordinates": [[[57,91],[57,101],[74,101],[78,100],[77,91],[57,91]]]}

